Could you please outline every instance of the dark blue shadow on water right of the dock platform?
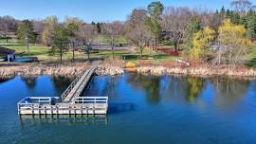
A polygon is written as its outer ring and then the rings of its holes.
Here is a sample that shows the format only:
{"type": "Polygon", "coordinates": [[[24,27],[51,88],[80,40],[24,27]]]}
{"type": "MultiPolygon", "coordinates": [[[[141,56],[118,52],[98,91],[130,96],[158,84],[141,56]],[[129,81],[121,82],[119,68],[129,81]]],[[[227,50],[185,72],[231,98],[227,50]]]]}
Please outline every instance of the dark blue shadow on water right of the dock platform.
{"type": "Polygon", "coordinates": [[[133,103],[109,103],[108,114],[119,114],[125,112],[135,111],[136,107],[133,103]]]}

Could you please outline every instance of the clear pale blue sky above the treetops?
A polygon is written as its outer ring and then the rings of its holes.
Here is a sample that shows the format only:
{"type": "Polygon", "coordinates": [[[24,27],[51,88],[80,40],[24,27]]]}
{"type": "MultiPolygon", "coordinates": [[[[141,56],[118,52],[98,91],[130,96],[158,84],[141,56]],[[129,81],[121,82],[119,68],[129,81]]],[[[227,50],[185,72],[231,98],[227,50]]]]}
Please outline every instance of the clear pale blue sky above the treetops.
{"type": "MultiPolygon", "coordinates": [[[[229,7],[230,0],[160,0],[165,6],[185,6],[201,9],[229,7]]],[[[256,0],[253,0],[254,2],[256,0]]],[[[135,8],[145,8],[152,0],[2,0],[0,15],[17,19],[44,19],[57,15],[79,17],[85,22],[124,21],[135,8]]]]}

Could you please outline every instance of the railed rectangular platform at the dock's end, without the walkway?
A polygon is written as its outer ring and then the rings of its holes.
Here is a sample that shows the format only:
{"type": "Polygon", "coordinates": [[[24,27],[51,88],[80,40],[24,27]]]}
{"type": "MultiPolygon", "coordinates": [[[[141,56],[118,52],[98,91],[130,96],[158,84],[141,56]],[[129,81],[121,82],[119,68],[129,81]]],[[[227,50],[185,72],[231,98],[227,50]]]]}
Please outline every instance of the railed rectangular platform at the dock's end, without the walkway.
{"type": "Polygon", "coordinates": [[[106,114],[107,97],[78,97],[73,102],[59,103],[56,97],[27,97],[18,102],[18,114],[106,114]],[[56,103],[52,103],[57,99],[56,103]]]}

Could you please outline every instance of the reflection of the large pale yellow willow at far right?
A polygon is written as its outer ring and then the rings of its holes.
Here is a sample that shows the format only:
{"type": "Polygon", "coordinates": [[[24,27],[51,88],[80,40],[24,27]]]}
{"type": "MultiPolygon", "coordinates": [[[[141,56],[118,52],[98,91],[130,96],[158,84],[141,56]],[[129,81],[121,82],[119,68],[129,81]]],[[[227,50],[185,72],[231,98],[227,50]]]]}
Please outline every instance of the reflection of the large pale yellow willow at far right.
{"type": "Polygon", "coordinates": [[[218,106],[231,106],[246,96],[250,81],[214,78],[212,83],[215,103],[218,106]]]}

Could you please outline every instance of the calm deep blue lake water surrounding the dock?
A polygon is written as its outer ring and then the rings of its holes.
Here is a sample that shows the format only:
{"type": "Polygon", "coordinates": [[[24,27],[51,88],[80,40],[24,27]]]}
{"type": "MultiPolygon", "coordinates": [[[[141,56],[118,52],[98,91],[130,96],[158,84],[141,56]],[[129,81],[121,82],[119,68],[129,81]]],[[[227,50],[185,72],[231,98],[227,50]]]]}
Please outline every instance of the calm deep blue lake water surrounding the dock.
{"type": "Polygon", "coordinates": [[[19,117],[26,96],[60,96],[67,78],[0,82],[0,143],[255,144],[256,81],[94,77],[84,96],[109,97],[107,117],[19,117]]]}

